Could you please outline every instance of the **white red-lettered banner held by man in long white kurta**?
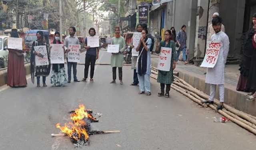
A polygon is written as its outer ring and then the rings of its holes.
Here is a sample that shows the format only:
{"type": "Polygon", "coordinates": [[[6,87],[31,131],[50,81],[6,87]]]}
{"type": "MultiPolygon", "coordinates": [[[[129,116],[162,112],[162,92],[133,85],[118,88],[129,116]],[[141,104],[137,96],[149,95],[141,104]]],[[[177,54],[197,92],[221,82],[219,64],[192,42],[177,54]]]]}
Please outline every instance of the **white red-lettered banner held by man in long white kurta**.
{"type": "Polygon", "coordinates": [[[204,61],[202,62],[200,67],[214,68],[219,57],[220,46],[220,42],[207,41],[204,61]]]}

